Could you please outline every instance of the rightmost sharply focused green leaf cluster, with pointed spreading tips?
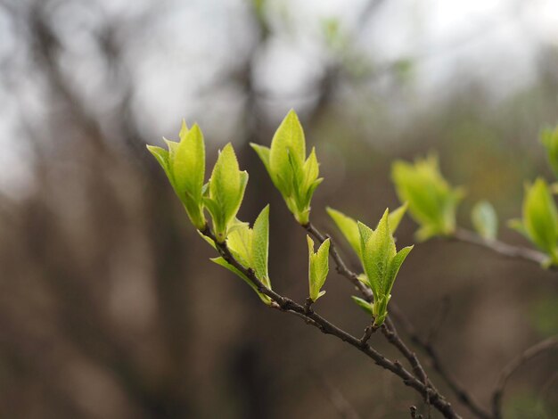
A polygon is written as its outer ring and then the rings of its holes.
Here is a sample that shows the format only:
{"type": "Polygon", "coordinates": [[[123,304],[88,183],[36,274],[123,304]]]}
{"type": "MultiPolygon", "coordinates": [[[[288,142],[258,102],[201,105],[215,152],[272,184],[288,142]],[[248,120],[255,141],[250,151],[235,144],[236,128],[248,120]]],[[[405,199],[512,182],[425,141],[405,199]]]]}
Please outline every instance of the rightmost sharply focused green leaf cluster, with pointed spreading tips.
{"type": "Polygon", "coordinates": [[[388,315],[391,288],[399,268],[413,249],[413,246],[408,246],[400,251],[396,250],[395,240],[390,232],[389,213],[389,209],[386,209],[375,230],[360,222],[357,223],[361,260],[368,278],[368,285],[374,296],[372,304],[374,325],[382,325],[388,315]]]}

